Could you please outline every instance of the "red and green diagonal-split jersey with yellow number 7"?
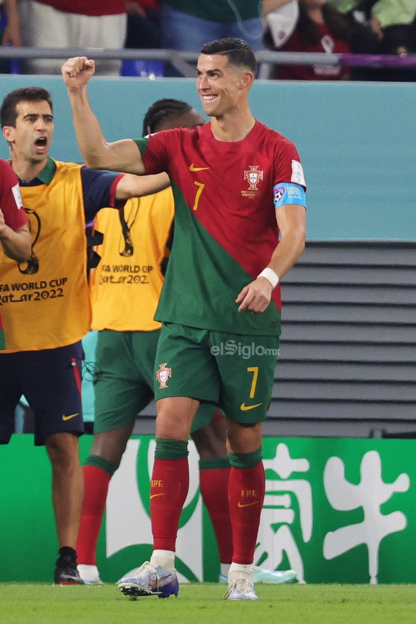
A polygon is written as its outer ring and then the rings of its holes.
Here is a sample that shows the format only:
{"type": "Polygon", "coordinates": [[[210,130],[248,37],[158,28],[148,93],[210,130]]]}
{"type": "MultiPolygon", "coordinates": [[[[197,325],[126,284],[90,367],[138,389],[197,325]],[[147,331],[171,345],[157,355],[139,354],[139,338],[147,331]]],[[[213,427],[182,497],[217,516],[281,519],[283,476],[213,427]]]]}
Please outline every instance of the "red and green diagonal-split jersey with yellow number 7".
{"type": "Polygon", "coordinates": [[[278,335],[279,285],[262,314],[238,312],[235,300],[278,244],[273,187],[299,183],[293,143],[258,121],[236,142],[216,140],[206,124],[136,143],[145,172],[166,171],[175,197],[175,236],[155,318],[225,333],[278,335]]]}

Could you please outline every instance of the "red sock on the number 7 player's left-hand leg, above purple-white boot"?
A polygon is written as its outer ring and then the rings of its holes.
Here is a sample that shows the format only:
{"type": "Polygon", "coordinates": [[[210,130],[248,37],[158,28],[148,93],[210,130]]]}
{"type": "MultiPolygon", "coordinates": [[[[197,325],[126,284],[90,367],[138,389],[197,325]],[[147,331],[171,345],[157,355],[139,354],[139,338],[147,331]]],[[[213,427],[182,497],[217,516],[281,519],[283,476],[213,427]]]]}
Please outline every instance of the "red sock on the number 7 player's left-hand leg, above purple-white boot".
{"type": "Polygon", "coordinates": [[[155,459],[150,484],[153,548],[173,550],[189,487],[188,457],[155,459]]]}

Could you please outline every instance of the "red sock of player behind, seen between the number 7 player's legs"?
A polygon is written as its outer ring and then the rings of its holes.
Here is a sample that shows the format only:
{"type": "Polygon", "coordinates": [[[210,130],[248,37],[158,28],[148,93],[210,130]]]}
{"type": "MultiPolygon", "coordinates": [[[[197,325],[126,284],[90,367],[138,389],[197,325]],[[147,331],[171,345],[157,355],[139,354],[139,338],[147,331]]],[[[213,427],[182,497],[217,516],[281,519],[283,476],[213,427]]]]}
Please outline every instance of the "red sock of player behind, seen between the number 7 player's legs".
{"type": "Polygon", "coordinates": [[[221,563],[233,560],[233,530],[228,507],[230,468],[200,469],[200,490],[214,527],[221,563]]]}

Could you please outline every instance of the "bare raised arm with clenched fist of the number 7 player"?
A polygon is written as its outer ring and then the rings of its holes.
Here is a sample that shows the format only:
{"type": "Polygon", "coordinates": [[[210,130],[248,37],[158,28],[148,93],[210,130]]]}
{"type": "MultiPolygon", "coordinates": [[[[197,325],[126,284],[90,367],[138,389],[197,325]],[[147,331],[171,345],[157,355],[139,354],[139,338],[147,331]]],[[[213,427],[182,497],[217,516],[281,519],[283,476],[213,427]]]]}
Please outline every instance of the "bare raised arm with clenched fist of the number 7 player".
{"type": "Polygon", "coordinates": [[[85,56],[68,59],[62,66],[74,118],[75,134],[85,164],[93,169],[109,169],[125,173],[145,173],[142,157],[132,139],[109,143],[97,117],[90,107],[87,83],[95,71],[95,63],[85,56]]]}

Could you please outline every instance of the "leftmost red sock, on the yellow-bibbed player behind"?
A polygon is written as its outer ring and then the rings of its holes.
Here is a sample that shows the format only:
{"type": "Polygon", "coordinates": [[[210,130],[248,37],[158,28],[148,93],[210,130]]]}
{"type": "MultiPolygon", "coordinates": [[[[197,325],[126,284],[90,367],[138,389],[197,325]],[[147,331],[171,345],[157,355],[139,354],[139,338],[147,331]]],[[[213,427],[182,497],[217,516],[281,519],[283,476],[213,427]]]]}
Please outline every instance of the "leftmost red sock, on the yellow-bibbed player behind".
{"type": "Polygon", "coordinates": [[[85,493],[77,541],[78,563],[97,565],[95,548],[109,490],[110,475],[97,466],[84,466],[85,493]]]}

